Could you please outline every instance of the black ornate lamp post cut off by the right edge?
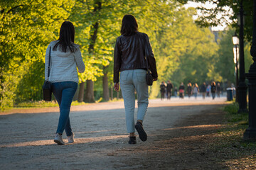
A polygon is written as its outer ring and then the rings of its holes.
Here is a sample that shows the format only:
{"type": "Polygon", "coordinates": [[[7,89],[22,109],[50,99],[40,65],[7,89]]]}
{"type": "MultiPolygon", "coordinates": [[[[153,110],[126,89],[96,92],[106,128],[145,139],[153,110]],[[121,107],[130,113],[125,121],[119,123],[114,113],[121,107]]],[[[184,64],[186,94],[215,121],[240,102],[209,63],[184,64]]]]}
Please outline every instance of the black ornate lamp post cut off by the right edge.
{"type": "Polygon", "coordinates": [[[252,47],[250,49],[252,60],[249,73],[246,78],[249,80],[249,127],[245,130],[244,140],[256,140],[256,0],[253,1],[253,34],[252,47]]]}

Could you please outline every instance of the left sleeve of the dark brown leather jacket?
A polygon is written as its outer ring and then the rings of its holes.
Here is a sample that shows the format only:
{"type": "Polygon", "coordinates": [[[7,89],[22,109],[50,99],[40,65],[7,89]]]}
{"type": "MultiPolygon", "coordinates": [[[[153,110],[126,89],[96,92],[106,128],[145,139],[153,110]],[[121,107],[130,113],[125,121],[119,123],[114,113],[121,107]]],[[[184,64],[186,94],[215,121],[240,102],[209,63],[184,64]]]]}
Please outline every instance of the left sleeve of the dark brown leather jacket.
{"type": "Polygon", "coordinates": [[[121,68],[121,43],[120,38],[117,38],[115,47],[114,47],[114,83],[119,83],[119,72],[121,68]]]}

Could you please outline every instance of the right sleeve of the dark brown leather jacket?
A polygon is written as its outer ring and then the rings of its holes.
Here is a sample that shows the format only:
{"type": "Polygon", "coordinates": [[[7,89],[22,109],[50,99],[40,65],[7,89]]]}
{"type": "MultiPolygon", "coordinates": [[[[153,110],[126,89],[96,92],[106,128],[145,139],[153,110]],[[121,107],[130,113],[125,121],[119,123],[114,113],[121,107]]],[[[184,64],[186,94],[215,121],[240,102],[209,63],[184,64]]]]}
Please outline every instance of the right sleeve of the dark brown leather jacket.
{"type": "Polygon", "coordinates": [[[149,42],[149,36],[146,35],[146,47],[147,47],[147,56],[148,56],[148,64],[149,64],[149,69],[152,73],[152,76],[154,79],[156,79],[158,77],[157,75],[157,70],[156,70],[156,59],[154,57],[154,53],[152,51],[152,48],[151,48],[151,44],[149,42]]]}

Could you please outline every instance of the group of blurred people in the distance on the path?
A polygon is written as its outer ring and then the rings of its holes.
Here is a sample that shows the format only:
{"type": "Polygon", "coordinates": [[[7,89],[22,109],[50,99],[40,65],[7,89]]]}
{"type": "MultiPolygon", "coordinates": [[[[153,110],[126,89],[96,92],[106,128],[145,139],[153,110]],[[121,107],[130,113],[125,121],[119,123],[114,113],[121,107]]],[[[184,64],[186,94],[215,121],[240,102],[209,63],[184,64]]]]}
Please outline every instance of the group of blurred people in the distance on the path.
{"type": "Polygon", "coordinates": [[[208,84],[208,85],[206,85],[206,82],[203,82],[200,88],[197,83],[192,85],[191,82],[189,82],[185,87],[182,82],[177,89],[177,87],[174,87],[173,84],[171,84],[171,81],[169,80],[167,84],[165,84],[164,81],[161,82],[161,85],[160,85],[161,100],[164,99],[165,95],[167,96],[167,99],[170,100],[173,89],[174,89],[174,96],[175,97],[179,96],[180,98],[184,98],[185,92],[186,92],[186,94],[188,94],[188,98],[190,98],[191,96],[195,96],[195,98],[197,98],[198,94],[201,93],[203,96],[203,99],[205,99],[206,96],[210,97],[210,94],[211,94],[214,100],[216,94],[218,97],[220,97],[220,93],[221,93],[220,83],[216,85],[215,81],[212,81],[211,84],[208,84]]]}

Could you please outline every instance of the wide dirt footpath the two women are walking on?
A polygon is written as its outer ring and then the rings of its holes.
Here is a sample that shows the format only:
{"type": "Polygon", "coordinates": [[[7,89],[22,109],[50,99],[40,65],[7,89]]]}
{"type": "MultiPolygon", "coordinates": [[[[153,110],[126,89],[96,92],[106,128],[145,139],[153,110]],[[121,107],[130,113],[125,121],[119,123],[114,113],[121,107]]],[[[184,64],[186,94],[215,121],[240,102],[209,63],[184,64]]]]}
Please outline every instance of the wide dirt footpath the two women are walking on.
{"type": "Polygon", "coordinates": [[[1,113],[0,169],[226,169],[206,147],[225,98],[149,102],[148,140],[137,145],[128,144],[122,102],[73,107],[75,143],[63,146],[53,142],[58,109],[1,113]]]}

